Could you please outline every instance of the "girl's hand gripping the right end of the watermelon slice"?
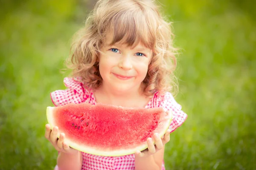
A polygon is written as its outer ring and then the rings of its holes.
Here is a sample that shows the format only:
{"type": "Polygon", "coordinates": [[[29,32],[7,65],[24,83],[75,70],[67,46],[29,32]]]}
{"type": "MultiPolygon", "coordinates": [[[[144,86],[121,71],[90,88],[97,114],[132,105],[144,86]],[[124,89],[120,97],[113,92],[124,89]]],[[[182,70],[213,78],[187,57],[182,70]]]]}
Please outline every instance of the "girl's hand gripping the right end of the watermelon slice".
{"type": "Polygon", "coordinates": [[[162,138],[160,138],[158,133],[154,134],[154,139],[155,139],[155,145],[152,141],[151,138],[147,139],[147,143],[148,143],[148,149],[145,149],[143,151],[137,151],[135,154],[137,156],[143,157],[143,156],[149,156],[149,155],[153,155],[154,153],[156,153],[158,150],[162,149],[163,146],[170,141],[170,132],[171,130],[167,130],[166,133],[164,134],[164,136],[162,138]]]}

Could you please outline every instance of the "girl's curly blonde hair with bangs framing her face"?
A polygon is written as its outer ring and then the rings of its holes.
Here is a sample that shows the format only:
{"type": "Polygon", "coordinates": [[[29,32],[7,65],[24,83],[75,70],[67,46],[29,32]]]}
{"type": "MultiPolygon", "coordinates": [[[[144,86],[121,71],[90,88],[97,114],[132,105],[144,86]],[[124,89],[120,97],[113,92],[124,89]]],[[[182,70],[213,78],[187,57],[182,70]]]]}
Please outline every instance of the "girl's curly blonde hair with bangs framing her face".
{"type": "Polygon", "coordinates": [[[128,46],[141,42],[153,51],[148,72],[143,80],[144,94],[175,91],[176,51],[170,23],[161,16],[159,6],[151,0],[98,0],[87,17],[85,26],[75,34],[68,68],[72,77],[80,77],[86,88],[102,84],[99,54],[106,35],[113,31],[111,45],[124,41],[128,46]],[[125,40],[124,40],[125,39],[125,40]]]}

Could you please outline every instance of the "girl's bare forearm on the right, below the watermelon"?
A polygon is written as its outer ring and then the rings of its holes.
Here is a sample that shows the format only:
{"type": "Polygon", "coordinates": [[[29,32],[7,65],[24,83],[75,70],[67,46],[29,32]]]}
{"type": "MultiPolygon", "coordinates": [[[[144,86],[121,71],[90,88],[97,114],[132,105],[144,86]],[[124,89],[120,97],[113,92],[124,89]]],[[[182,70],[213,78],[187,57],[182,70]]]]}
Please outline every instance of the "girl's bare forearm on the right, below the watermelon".
{"type": "Polygon", "coordinates": [[[161,170],[164,156],[163,148],[150,156],[140,157],[135,155],[135,170],[161,170]]]}

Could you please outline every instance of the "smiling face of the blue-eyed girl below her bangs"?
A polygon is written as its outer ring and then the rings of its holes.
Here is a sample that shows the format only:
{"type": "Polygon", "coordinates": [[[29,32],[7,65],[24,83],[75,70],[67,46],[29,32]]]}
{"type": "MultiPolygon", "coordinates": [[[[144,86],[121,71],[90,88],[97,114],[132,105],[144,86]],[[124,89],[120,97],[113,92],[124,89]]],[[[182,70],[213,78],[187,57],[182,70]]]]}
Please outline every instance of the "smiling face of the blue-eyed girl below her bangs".
{"type": "Polygon", "coordinates": [[[133,49],[125,44],[109,45],[107,37],[99,59],[99,71],[103,85],[119,92],[140,88],[148,72],[152,51],[140,43],[133,49]]]}

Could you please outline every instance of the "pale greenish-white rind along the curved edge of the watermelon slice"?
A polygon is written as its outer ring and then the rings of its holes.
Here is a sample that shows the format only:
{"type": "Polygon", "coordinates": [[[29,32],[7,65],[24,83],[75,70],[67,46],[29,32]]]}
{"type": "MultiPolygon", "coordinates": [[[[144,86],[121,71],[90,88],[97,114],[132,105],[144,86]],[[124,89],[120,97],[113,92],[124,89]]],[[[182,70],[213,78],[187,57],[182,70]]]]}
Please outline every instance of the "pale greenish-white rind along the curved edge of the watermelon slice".
{"type": "MultiPolygon", "coordinates": [[[[55,107],[47,107],[47,121],[48,121],[49,125],[51,126],[51,129],[54,127],[53,126],[53,124],[54,124],[53,123],[53,117],[51,117],[53,108],[55,108],[55,107]]],[[[165,126],[162,128],[162,129],[165,129],[165,130],[158,133],[160,137],[164,136],[164,134],[169,129],[169,126],[172,122],[172,116],[173,116],[172,111],[168,111],[168,113],[169,113],[168,116],[170,117],[170,119],[169,119],[169,121],[166,121],[165,126]]],[[[59,133],[57,135],[58,138],[60,137],[60,133],[61,133],[60,131],[61,130],[59,130],[59,133]]],[[[155,144],[154,138],[152,138],[152,139],[153,139],[153,142],[155,144]]],[[[125,155],[134,154],[137,150],[143,151],[143,150],[148,148],[148,144],[145,142],[145,144],[140,145],[138,147],[135,147],[133,149],[129,149],[129,150],[99,151],[99,150],[95,150],[94,148],[91,148],[91,147],[80,146],[79,144],[76,144],[76,143],[70,141],[67,138],[65,139],[65,142],[67,142],[67,144],[69,144],[70,147],[72,147],[76,150],[79,150],[79,151],[84,152],[84,153],[98,155],[98,156],[125,156],[125,155]]]]}

